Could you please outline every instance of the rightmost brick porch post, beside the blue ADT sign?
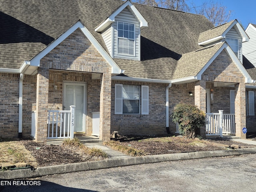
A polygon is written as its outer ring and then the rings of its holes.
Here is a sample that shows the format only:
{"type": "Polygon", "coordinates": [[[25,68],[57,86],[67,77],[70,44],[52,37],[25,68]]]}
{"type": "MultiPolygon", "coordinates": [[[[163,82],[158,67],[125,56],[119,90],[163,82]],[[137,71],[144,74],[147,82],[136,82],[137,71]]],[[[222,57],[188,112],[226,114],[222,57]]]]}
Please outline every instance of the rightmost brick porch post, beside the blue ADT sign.
{"type": "Polygon", "coordinates": [[[236,136],[246,138],[246,134],[242,129],[246,127],[246,99],[245,99],[245,83],[240,82],[235,85],[235,122],[236,136]]]}

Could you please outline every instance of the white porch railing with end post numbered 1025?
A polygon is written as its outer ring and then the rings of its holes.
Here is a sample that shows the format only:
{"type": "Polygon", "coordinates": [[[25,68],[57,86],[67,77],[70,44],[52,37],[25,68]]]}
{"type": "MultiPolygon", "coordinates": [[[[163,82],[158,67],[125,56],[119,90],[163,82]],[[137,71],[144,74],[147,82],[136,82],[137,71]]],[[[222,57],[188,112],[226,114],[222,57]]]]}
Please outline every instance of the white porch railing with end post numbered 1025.
{"type": "Polygon", "coordinates": [[[65,111],[49,110],[47,139],[74,138],[74,112],[75,106],[65,111]]]}

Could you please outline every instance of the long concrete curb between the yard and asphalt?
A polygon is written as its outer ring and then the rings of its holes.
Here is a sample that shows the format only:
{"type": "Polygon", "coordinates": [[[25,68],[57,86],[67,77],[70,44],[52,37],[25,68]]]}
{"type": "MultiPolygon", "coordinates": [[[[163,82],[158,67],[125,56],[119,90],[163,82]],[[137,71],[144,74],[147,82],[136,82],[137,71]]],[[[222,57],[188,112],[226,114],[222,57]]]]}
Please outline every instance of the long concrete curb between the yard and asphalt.
{"type": "Polygon", "coordinates": [[[158,163],[174,160],[188,160],[207,157],[221,157],[231,155],[242,155],[256,153],[256,147],[254,148],[241,148],[231,150],[217,150],[217,151],[202,151],[202,152],[188,152],[188,153],[176,153],[176,154],[162,154],[151,155],[142,157],[129,157],[120,159],[107,159],[101,161],[81,162],[73,164],[64,164],[48,167],[38,167],[36,170],[31,169],[18,169],[8,170],[0,172],[0,179],[25,179],[36,178],[52,174],[63,174],[70,172],[79,172],[87,170],[96,170],[120,166],[130,166],[136,164],[148,164],[158,163]]]}

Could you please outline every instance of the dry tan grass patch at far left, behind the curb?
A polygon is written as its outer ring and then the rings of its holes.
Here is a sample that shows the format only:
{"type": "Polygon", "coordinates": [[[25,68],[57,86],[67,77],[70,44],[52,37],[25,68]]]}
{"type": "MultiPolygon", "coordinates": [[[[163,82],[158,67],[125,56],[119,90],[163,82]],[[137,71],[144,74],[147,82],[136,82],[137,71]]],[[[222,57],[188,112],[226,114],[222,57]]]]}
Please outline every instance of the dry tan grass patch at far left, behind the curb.
{"type": "Polygon", "coordinates": [[[37,166],[36,159],[29,150],[26,150],[22,141],[0,140],[0,164],[25,162],[31,166],[37,166]]]}

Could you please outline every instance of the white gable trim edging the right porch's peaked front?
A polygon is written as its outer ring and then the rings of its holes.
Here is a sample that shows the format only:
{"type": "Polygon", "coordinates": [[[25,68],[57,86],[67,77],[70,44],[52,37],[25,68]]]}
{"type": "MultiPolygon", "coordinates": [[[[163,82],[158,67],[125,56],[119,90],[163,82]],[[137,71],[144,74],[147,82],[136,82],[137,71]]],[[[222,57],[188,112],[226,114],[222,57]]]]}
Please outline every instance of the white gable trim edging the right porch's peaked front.
{"type": "Polygon", "coordinates": [[[240,70],[240,72],[245,77],[245,82],[246,83],[255,82],[255,80],[252,80],[252,78],[250,77],[250,75],[248,74],[248,72],[246,71],[246,69],[244,68],[242,63],[240,62],[240,60],[237,58],[237,56],[234,54],[234,52],[232,51],[232,49],[230,48],[230,46],[228,46],[228,44],[226,42],[220,47],[220,49],[214,54],[214,56],[212,56],[212,58],[200,70],[200,72],[197,74],[197,79],[201,80],[202,74],[206,71],[206,69],[210,66],[210,64],[212,64],[212,62],[217,58],[217,56],[220,54],[220,52],[222,52],[222,50],[224,50],[224,49],[227,50],[230,58],[236,64],[237,68],[240,70]]]}

